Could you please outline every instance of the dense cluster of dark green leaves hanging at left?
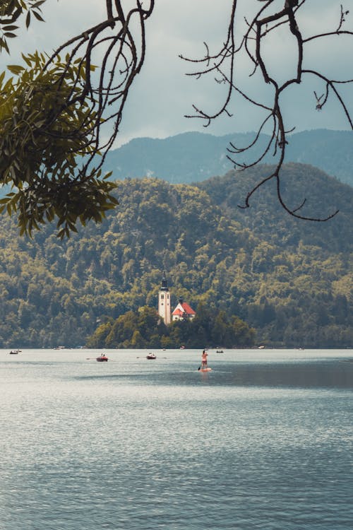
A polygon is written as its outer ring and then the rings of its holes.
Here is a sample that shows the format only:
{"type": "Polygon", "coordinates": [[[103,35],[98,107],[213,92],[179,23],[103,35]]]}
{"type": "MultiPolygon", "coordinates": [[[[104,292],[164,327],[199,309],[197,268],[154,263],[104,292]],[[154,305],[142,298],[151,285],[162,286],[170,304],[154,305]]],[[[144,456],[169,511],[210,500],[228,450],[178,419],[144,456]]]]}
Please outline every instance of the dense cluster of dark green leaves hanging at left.
{"type": "Polygon", "coordinates": [[[68,57],[58,56],[44,69],[42,54],[23,59],[27,68],[8,66],[15,78],[0,75],[0,175],[14,188],[0,200],[0,212],[18,211],[20,234],[29,235],[56,217],[62,238],[76,231],[78,219],[83,225],[101,221],[118,201],[114,184],[100,179],[100,170],[83,172],[77,162],[91,151],[96,119],[72,81],[84,81],[85,65],[68,65],[68,57]]]}

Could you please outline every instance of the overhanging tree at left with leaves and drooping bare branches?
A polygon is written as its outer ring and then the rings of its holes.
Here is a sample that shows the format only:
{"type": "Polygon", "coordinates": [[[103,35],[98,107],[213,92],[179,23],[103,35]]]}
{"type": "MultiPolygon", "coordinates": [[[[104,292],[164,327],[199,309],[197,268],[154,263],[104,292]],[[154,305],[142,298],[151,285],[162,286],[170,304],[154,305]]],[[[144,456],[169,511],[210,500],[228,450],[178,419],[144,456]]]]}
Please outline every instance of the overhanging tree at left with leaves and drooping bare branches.
{"type": "MultiPolygon", "coordinates": [[[[13,25],[26,13],[42,20],[42,1],[8,0],[0,8],[1,49],[9,51],[13,25]]],[[[145,8],[106,2],[106,18],[65,42],[50,56],[23,55],[27,68],[10,66],[16,76],[0,92],[0,182],[14,191],[2,211],[18,212],[20,233],[56,219],[58,236],[76,223],[102,221],[118,201],[114,184],[101,177],[104,155],[119,130],[128,90],[145,56],[145,8]],[[136,24],[137,23],[137,24],[136,24]],[[137,29],[136,29],[137,28],[137,29]],[[135,35],[137,32],[137,35],[135,35]],[[100,63],[94,74],[94,61],[100,63]],[[113,124],[107,136],[102,126],[113,124]],[[97,161],[97,155],[101,155],[97,161]]]]}

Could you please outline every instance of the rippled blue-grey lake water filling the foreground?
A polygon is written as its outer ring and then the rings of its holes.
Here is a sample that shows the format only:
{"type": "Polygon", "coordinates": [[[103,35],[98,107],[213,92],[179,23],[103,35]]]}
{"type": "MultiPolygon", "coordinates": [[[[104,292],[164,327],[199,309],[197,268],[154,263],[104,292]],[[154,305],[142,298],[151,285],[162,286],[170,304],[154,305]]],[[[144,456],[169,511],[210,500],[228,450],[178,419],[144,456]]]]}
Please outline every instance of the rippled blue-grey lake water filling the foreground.
{"type": "Polygon", "coordinates": [[[353,351],[0,351],[1,530],[352,530],[353,351]]]}

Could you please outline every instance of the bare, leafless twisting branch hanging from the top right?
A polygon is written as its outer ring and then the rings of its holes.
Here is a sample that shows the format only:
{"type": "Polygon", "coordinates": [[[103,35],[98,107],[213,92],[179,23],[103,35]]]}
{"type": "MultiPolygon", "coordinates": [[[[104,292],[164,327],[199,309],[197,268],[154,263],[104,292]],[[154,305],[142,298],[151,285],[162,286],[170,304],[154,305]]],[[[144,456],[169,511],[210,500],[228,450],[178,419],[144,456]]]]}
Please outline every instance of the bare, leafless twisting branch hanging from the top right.
{"type": "MultiPolygon", "coordinates": [[[[251,19],[249,16],[245,18],[244,35],[235,35],[234,24],[236,21],[236,13],[239,12],[240,1],[233,0],[232,10],[229,15],[227,37],[225,39],[225,44],[221,47],[220,51],[212,54],[210,52],[210,47],[205,44],[206,54],[202,59],[186,59],[185,57],[180,56],[182,59],[189,61],[191,64],[205,66],[204,69],[198,68],[198,70],[194,71],[193,73],[187,73],[187,75],[196,76],[196,78],[202,78],[203,76],[207,76],[208,74],[217,71],[221,75],[222,82],[227,85],[225,98],[220,105],[220,108],[216,112],[209,113],[206,110],[198,107],[198,105],[193,105],[195,114],[189,114],[186,117],[197,117],[199,119],[203,119],[205,120],[205,126],[209,126],[211,122],[217,119],[217,117],[220,117],[221,114],[228,114],[229,116],[232,115],[230,103],[233,93],[241,95],[246,102],[254,105],[258,108],[258,110],[262,109],[267,111],[268,113],[266,114],[265,118],[261,120],[258,130],[254,134],[253,141],[251,141],[248,146],[238,148],[237,146],[234,146],[234,143],[230,143],[228,148],[229,155],[227,155],[227,157],[232,161],[232,163],[234,163],[234,167],[237,170],[244,170],[247,167],[253,167],[258,163],[261,163],[271,148],[273,148],[273,156],[277,160],[275,170],[270,175],[265,175],[265,177],[263,177],[263,179],[258,182],[253,189],[251,189],[249,194],[246,196],[244,206],[241,207],[248,208],[250,206],[250,199],[253,193],[260,189],[265,182],[268,182],[270,179],[275,179],[277,183],[277,198],[281,206],[290,215],[305,220],[328,220],[335,216],[337,211],[328,216],[323,216],[323,218],[306,216],[301,213],[301,208],[304,206],[306,199],[302,200],[300,206],[297,208],[289,208],[283,199],[281,192],[281,168],[285,161],[285,150],[288,143],[287,135],[289,131],[293,131],[294,127],[285,126],[282,114],[281,98],[286,90],[288,90],[290,87],[299,85],[303,81],[304,76],[316,76],[316,78],[323,83],[324,87],[322,94],[317,95],[314,93],[316,109],[321,110],[328,101],[330,93],[332,93],[339,102],[349,127],[353,129],[352,116],[347,105],[345,104],[344,98],[342,98],[342,95],[340,95],[339,91],[337,90],[337,85],[339,83],[353,83],[353,80],[331,79],[321,71],[304,68],[303,66],[304,58],[306,57],[305,45],[308,42],[313,40],[328,39],[330,37],[337,38],[342,37],[343,35],[353,36],[352,31],[344,28],[349,11],[343,8],[342,4],[340,4],[340,12],[337,12],[338,23],[335,29],[324,33],[318,33],[316,35],[303,36],[303,30],[301,29],[298,20],[299,12],[303,11],[306,7],[306,0],[283,0],[282,8],[278,8],[278,2],[275,2],[274,0],[258,1],[261,2],[262,5],[256,9],[256,13],[254,14],[253,18],[251,19]],[[295,76],[287,78],[285,81],[280,81],[279,77],[276,78],[276,76],[273,76],[273,74],[270,73],[271,65],[263,54],[263,46],[268,36],[275,35],[275,33],[280,29],[281,31],[287,30],[287,37],[294,37],[294,41],[296,43],[295,56],[292,55],[288,58],[288,61],[292,61],[296,73],[295,76]],[[239,40],[238,45],[236,43],[236,36],[239,40]],[[257,71],[260,71],[261,78],[265,85],[268,85],[272,88],[271,105],[268,105],[267,103],[263,104],[259,101],[253,100],[253,98],[248,95],[247,90],[241,88],[240,81],[236,75],[237,69],[235,65],[237,64],[237,55],[240,56],[240,54],[244,53],[253,64],[253,68],[249,74],[249,77],[254,76],[257,71]],[[270,140],[266,143],[261,155],[259,155],[250,163],[244,163],[242,160],[239,160],[239,155],[241,155],[241,153],[244,153],[248,150],[250,151],[251,148],[258,143],[263,129],[271,120],[273,122],[273,126],[270,133],[270,140]]],[[[303,20],[303,18],[301,18],[301,20],[303,20]]],[[[259,88],[258,95],[260,96],[260,94],[261,90],[259,88]]]]}

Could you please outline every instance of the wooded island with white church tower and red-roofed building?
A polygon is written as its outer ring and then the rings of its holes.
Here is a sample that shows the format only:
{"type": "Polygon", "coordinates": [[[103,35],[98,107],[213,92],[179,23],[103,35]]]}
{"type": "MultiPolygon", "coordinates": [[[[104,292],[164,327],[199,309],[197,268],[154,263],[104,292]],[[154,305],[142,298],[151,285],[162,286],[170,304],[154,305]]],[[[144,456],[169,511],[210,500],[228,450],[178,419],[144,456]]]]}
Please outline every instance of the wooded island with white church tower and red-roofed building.
{"type": "Polygon", "coordinates": [[[144,305],[116,319],[101,317],[88,348],[251,348],[255,329],[235,314],[214,305],[198,303],[196,310],[169,291],[162,273],[157,307],[144,305]],[[174,302],[175,303],[175,302],[174,302]],[[172,310],[172,307],[174,309],[172,310]]]}

